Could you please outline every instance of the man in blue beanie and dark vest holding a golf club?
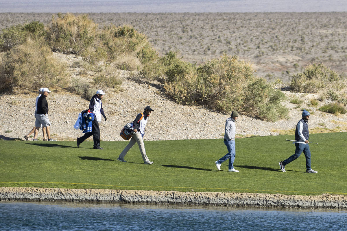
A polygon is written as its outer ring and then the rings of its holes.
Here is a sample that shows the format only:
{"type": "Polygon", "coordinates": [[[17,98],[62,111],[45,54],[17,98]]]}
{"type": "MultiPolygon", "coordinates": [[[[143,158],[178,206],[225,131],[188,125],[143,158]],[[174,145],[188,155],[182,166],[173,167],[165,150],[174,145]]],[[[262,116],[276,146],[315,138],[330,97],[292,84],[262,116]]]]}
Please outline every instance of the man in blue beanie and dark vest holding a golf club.
{"type": "Polygon", "coordinates": [[[306,157],[306,172],[317,173],[311,168],[311,152],[310,146],[308,146],[308,118],[310,118],[310,113],[306,110],[303,111],[302,119],[299,120],[295,129],[295,153],[288,159],[279,162],[282,172],[286,172],[284,167],[293,160],[296,160],[302,152],[304,152],[306,157]]]}

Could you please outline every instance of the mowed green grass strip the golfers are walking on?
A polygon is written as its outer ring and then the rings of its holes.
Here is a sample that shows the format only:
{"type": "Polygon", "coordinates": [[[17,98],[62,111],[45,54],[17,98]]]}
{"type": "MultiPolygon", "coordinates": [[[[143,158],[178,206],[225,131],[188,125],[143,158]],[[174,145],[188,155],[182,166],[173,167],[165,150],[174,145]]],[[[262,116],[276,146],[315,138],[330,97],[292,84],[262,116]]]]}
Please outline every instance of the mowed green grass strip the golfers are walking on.
{"type": "Polygon", "coordinates": [[[0,187],[107,188],[195,192],[347,195],[346,132],[311,134],[312,168],[305,172],[305,156],[279,169],[279,161],[294,153],[285,139],[294,135],[236,139],[234,167],[228,161],[218,171],[215,161],[227,153],[222,139],[145,141],[144,165],[137,144],[117,160],[127,141],[92,142],[80,148],[72,141],[0,141],[0,187]]]}

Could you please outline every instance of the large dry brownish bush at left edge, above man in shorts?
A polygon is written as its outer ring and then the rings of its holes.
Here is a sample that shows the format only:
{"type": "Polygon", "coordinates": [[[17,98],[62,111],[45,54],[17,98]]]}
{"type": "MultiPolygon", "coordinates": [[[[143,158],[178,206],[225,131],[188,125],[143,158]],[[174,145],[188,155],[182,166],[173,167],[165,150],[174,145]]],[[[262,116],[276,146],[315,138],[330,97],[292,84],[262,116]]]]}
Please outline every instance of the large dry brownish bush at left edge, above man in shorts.
{"type": "Polygon", "coordinates": [[[1,90],[64,88],[69,82],[66,69],[52,56],[49,47],[28,39],[6,53],[0,67],[1,90]]]}

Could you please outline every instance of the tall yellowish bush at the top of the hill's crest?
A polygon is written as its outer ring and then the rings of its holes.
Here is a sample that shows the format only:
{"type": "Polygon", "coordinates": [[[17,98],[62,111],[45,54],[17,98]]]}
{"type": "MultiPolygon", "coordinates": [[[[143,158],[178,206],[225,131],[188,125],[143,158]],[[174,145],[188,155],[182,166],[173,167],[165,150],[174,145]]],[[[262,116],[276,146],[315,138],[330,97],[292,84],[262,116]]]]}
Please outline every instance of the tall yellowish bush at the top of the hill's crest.
{"type": "Polygon", "coordinates": [[[47,28],[47,37],[53,51],[81,54],[93,45],[97,27],[87,15],[58,14],[47,28]]]}

